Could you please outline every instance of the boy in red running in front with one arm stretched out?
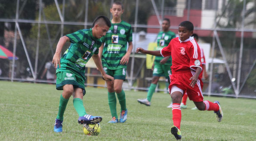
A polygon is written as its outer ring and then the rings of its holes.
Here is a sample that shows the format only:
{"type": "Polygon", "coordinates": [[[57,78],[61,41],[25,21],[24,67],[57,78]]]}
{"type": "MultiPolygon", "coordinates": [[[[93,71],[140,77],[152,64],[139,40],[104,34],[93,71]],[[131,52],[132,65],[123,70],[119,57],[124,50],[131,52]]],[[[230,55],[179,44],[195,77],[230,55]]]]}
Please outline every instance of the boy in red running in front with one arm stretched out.
{"type": "Polygon", "coordinates": [[[194,102],[199,110],[214,111],[216,120],[222,120],[223,113],[219,101],[214,103],[205,100],[202,95],[201,79],[202,71],[200,48],[193,37],[194,26],[190,21],[183,21],[179,24],[179,37],[170,41],[167,47],[162,50],[150,51],[137,48],[136,53],[141,52],[154,56],[172,56],[172,75],[170,75],[170,95],[173,99],[173,126],[171,133],[178,140],[181,139],[180,122],[181,109],[180,103],[183,94],[188,93],[190,100],[194,102]]]}

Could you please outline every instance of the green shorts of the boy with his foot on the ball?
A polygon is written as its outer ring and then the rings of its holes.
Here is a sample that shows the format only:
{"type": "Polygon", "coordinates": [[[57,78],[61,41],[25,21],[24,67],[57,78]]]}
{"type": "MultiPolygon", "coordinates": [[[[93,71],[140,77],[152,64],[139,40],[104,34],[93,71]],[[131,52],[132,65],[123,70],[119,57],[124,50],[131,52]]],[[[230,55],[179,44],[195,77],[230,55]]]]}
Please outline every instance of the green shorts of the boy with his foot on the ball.
{"type": "Polygon", "coordinates": [[[66,84],[73,85],[74,88],[82,88],[83,95],[85,95],[86,91],[84,88],[85,79],[83,79],[79,74],[74,73],[72,71],[59,71],[56,74],[56,89],[63,90],[63,86],[66,84]]]}

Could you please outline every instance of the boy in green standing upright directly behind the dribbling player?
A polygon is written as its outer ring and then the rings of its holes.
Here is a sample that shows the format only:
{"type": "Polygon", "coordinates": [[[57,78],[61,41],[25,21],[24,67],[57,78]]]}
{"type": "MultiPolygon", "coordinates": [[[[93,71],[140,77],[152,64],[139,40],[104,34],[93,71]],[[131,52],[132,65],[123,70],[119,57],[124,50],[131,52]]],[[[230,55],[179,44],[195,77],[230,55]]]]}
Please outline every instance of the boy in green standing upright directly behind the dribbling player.
{"type": "Polygon", "coordinates": [[[113,17],[111,19],[111,27],[105,37],[101,38],[103,44],[99,49],[99,56],[102,57],[104,71],[114,77],[114,84],[111,83],[111,81],[106,81],[108,86],[108,105],[112,116],[112,120],[109,121],[109,123],[124,123],[127,118],[127,109],[122,85],[126,77],[127,63],[133,50],[133,32],[131,25],[121,19],[121,15],[123,14],[122,3],[114,2],[110,12],[113,17]],[[127,42],[129,44],[128,49],[127,42]],[[117,100],[115,93],[117,93],[117,98],[121,106],[119,121],[117,117],[117,100]]]}

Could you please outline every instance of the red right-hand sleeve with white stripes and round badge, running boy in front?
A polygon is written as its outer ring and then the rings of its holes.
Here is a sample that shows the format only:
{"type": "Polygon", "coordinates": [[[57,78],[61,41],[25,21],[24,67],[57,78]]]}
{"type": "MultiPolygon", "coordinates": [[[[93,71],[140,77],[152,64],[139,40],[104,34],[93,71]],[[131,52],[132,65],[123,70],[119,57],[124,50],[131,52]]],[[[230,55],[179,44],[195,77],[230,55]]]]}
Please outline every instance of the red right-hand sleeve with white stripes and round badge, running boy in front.
{"type": "Polygon", "coordinates": [[[189,68],[196,71],[197,67],[202,69],[200,48],[195,41],[191,41],[192,45],[189,47],[188,56],[190,57],[189,68]]]}

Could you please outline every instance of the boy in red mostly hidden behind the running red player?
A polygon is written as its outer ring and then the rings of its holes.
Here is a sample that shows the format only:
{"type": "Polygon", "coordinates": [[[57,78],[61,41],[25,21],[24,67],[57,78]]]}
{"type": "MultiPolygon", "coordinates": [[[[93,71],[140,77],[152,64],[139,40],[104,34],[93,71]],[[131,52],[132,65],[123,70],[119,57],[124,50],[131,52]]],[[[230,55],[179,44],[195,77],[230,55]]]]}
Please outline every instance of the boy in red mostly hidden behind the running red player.
{"type": "MultiPolygon", "coordinates": [[[[194,33],[194,34],[191,35],[191,37],[194,37],[194,40],[196,42],[198,42],[198,35],[197,34],[194,33]]],[[[203,74],[204,74],[204,79],[208,79],[208,74],[206,72],[206,66],[205,66],[206,62],[205,62],[203,48],[200,47],[200,51],[201,51],[201,62],[202,62],[203,70],[201,71],[199,77],[202,79],[203,78],[203,74]]],[[[203,81],[201,81],[201,82],[203,82],[203,81]]],[[[203,86],[202,86],[202,89],[203,89],[203,86]]],[[[180,104],[180,108],[181,109],[187,109],[187,105],[186,105],[187,99],[188,99],[188,94],[185,93],[183,95],[183,97],[182,97],[182,103],[180,104]]],[[[192,108],[192,110],[197,110],[197,107],[192,108]]]]}

